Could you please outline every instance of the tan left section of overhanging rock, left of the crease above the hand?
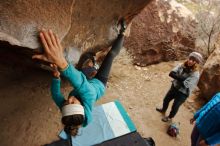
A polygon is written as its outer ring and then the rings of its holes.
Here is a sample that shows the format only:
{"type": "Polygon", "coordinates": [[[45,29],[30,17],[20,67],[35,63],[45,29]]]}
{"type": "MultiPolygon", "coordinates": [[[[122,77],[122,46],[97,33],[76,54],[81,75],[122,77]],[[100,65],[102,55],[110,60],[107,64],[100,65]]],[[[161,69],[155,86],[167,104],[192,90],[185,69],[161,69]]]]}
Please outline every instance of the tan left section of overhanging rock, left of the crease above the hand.
{"type": "Polygon", "coordinates": [[[70,29],[73,0],[3,0],[0,2],[0,40],[12,45],[40,47],[38,31],[54,30],[62,39],[70,29]]]}

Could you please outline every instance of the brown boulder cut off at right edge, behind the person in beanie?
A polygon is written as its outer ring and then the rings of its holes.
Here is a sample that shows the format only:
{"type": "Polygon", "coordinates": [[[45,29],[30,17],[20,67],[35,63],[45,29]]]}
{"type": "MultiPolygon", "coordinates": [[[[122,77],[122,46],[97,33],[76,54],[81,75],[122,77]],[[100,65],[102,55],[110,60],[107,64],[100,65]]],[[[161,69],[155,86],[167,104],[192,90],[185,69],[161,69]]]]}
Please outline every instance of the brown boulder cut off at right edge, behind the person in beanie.
{"type": "Polygon", "coordinates": [[[200,96],[207,99],[220,92],[220,47],[209,56],[204,65],[198,87],[200,96]]]}

